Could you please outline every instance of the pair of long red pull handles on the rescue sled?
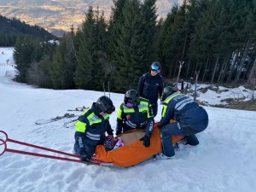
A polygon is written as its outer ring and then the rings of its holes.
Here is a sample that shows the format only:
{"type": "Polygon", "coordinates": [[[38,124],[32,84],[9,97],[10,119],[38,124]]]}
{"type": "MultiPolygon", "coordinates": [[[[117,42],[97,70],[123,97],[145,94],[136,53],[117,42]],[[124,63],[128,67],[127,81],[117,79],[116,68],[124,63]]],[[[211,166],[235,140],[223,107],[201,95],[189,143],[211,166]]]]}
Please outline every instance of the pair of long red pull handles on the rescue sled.
{"type": "Polygon", "coordinates": [[[0,145],[3,145],[3,152],[0,153],[0,156],[3,155],[5,152],[9,152],[9,153],[15,153],[15,154],[27,154],[27,155],[44,157],[44,158],[55,159],[55,160],[67,160],[67,161],[83,163],[81,160],[76,160],[76,159],[69,159],[69,158],[58,157],[58,156],[54,156],[54,155],[48,155],[48,154],[37,154],[37,153],[32,153],[32,152],[26,152],[26,151],[16,150],[16,149],[12,149],[12,148],[7,148],[7,143],[8,142],[9,143],[17,143],[17,144],[28,146],[28,147],[31,147],[31,148],[39,148],[39,149],[42,149],[42,150],[45,150],[45,151],[54,152],[56,154],[64,154],[64,155],[67,155],[67,156],[71,156],[71,157],[75,157],[75,158],[80,159],[79,155],[68,154],[68,153],[58,151],[58,150],[55,150],[55,149],[44,148],[44,147],[41,147],[41,146],[38,146],[38,145],[33,145],[33,144],[30,144],[30,143],[23,143],[23,142],[20,142],[20,141],[16,141],[16,140],[10,139],[6,132],[4,132],[4,131],[0,131],[0,132],[5,137],[5,140],[0,139],[0,142],[1,142],[0,145]]]}

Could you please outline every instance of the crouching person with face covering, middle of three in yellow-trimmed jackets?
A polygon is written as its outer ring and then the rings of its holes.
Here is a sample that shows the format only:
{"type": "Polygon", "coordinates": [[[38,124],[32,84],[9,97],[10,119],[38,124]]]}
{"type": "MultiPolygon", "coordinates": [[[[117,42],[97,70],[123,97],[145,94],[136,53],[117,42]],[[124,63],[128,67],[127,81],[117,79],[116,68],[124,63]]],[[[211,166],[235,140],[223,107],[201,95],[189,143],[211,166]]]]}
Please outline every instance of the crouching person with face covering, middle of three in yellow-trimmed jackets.
{"type": "Polygon", "coordinates": [[[128,90],[118,110],[116,135],[134,129],[146,129],[142,140],[143,145],[149,147],[153,128],[154,116],[150,102],[140,97],[137,90],[128,90]]]}

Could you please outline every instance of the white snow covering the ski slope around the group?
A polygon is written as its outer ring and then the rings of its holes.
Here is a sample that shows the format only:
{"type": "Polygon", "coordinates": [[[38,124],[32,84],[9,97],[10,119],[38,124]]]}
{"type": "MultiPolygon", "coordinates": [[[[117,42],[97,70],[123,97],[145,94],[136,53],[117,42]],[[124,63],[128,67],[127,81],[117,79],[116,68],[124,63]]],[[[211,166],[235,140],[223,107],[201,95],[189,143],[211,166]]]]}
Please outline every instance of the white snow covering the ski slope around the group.
{"type": "MultiPolygon", "coordinates": [[[[2,51],[3,48],[0,54],[2,51]]],[[[5,48],[5,56],[8,53],[11,56],[11,51],[5,48]]],[[[63,115],[67,109],[90,107],[103,92],[36,89],[18,84],[4,75],[6,70],[14,69],[4,64],[6,57],[0,58],[3,63],[0,65],[0,130],[6,131],[10,139],[72,153],[74,129],[63,126],[71,119],[46,125],[34,122],[63,115]]],[[[123,96],[111,93],[116,108],[123,96]]],[[[213,92],[200,94],[205,101],[208,97],[214,101],[213,92]]],[[[156,120],[160,119],[161,108],[156,120]]],[[[172,160],[148,160],[129,168],[113,168],[6,152],[0,156],[0,191],[253,191],[256,189],[256,112],[205,108],[209,125],[206,131],[197,134],[200,145],[180,146],[172,160]]],[[[116,115],[114,112],[110,117],[113,129],[116,115]]],[[[55,155],[14,143],[8,143],[8,148],[55,155]]]]}

